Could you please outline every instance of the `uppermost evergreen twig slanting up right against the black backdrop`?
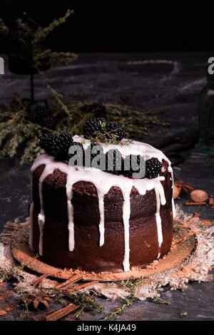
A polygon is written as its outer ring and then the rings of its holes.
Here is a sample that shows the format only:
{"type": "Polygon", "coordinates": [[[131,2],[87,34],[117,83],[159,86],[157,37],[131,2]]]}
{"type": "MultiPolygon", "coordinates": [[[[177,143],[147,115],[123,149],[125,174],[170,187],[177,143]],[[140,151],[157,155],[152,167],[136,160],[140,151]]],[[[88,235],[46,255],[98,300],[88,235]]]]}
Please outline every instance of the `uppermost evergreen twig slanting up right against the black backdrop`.
{"type": "Polygon", "coordinates": [[[68,11],[66,12],[66,14],[61,17],[60,19],[54,19],[53,22],[51,22],[51,24],[49,24],[49,26],[42,28],[39,27],[36,31],[36,33],[34,34],[34,39],[33,39],[33,44],[37,44],[39,43],[41,40],[44,40],[46,38],[46,36],[49,35],[49,33],[51,33],[51,31],[53,31],[56,27],[60,26],[61,24],[64,24],[66,22],[66,19],[68,19],[68,17],[73,14],[73,11],[71,11],[71,9],[68,9],[68,11]]]}

